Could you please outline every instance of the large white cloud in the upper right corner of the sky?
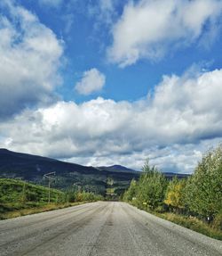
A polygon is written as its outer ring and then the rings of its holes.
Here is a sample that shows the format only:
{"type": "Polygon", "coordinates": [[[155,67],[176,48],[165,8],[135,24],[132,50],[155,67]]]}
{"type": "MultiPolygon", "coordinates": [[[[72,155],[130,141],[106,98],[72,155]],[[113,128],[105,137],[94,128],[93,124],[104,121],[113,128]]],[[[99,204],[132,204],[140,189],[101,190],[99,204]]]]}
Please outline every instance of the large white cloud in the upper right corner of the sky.
{"type": "Polygon", "coordinates": [[[217,33],[221,11],[218,0],[131,1],[113,26],[108,58],[122,67],[141,58],[156,61],[170,49],[209,37],[211,30],[217,33]]]}

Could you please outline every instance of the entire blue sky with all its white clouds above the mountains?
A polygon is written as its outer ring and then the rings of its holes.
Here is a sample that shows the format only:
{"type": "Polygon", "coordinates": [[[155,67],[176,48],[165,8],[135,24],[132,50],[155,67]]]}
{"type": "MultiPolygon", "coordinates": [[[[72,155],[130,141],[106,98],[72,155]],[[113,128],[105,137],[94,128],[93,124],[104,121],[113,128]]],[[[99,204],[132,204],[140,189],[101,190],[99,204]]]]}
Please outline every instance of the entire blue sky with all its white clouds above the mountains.
{"type": "Polygon", "coordinates": [[[0,146],[192,172],[222,137],[222,1],[3,0],[0,146]]]}

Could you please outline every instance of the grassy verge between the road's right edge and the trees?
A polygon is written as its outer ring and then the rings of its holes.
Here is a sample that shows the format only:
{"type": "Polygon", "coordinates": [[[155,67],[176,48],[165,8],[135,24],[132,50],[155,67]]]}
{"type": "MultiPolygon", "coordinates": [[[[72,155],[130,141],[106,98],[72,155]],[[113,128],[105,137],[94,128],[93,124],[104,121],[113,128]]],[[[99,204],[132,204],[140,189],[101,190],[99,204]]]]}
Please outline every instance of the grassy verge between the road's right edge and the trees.
{"type": "MultiPolygon", "coordinates": [[[[132,204],[133,205],[133,204],[132,204]]],[[[136,205],[133,205],[136,206],[136,205]]],[[[136,206],[137,207],[137,206],[136,206]]],[[[144,209],[141,209],[145,211],[144,209]]],[[[147,211],[151,214],[154,214],[157,217],[162,219],[169,220],[173,223],[176,223],[182,227],[189,228],[203,235],[210,236],[212,238],[222,240],[222,230],[218,228],[211,227],[208,223],[197,219],[193,216],[185,216],[181,214],[171,213],[171,212],[156,212],[156,211],[147,211]]]]}

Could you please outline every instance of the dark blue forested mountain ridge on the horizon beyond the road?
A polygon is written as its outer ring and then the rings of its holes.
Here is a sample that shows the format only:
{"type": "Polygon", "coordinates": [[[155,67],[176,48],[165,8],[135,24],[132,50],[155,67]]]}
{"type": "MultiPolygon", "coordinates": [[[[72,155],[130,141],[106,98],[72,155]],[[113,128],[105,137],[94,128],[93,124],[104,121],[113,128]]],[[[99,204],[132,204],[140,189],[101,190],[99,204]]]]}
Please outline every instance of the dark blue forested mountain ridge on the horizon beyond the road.
{"type": "MultiPolygon", "coordinates": [[[[16,153],[0,149],[0,178],[21,178],[40,185],[47,185],[44,174],[55,171],[55,188],[67,189],[73,186],[86,191],[106,194],[122,194],[130,185],[131,179],[138,179],[140,172],[121,165],[87,167],[76,163],[59,161],[28,153],[16,153]],[[110,182],[112,181],[112,182],[110,182]],[[110,185],[112,184],[112,185],[110,185]]],[[[183,174],[165,173],[167,178],[183,174]]]]}

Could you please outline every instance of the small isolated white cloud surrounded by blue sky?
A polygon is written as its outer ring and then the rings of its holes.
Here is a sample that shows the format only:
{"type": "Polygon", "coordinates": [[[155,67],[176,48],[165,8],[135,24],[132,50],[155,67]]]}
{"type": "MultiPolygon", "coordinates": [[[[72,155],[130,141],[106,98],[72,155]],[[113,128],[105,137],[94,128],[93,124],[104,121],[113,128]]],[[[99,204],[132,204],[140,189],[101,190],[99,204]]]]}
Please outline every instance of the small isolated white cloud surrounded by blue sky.
{"type": "Polygon", "coordinates": [[[97,69],[83,72],[83,78],[75,85],[75,90],[81,95],[91,95],[100,91],[106,83],[106,77],[97,69]]]}

